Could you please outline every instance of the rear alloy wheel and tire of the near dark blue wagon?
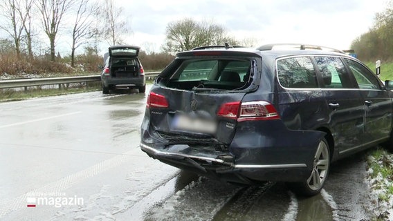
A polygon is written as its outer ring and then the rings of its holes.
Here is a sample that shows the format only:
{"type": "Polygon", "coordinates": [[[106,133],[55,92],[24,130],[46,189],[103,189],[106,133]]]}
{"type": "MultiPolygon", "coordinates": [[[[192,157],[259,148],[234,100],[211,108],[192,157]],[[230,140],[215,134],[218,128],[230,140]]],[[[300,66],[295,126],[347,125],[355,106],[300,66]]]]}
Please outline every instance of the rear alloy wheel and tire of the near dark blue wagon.
{"type": "Polygon", "coordinates": [[[313,196],[322,190],[330,169],[329,144],[322,138],[318,144],[313,160],[313,170],[307,180],[303,182],[287,183],[289,189],[297,195],[313,196]]]}

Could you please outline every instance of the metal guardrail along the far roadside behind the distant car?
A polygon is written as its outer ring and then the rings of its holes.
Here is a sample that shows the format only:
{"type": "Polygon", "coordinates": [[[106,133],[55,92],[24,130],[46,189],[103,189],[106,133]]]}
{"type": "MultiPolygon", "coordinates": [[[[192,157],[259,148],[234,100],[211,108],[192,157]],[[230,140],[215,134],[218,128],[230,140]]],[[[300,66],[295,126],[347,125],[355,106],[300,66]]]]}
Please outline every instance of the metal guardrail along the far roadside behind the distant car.
{"type": "MultiPolygon", "coordinates": [[[[154,79],[160,72],[145,73],[146,79],[154,79]]],[[[82,83],[90,81],[101,81],[100,75],[77,76],[77,77],[48,77],[48,78],[33,78],[33,79],[10,79],[0,81],[0,89],[5,88],[27,88],[30,86],[44,86],[51,84],[82,83]]]]}

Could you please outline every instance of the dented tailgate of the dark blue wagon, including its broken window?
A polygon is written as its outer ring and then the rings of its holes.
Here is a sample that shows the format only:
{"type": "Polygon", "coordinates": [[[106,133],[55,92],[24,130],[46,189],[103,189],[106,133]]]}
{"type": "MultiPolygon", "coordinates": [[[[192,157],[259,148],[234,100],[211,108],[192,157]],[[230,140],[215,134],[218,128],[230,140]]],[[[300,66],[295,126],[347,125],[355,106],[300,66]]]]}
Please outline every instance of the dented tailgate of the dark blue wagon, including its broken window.
{"type": "Polygon", "coordinates": [[[230,144],[241,99],[256,87],[250,86],[255,62],[244,57],[176,60],[149,94],[154,131],[172,144],[230,144]]]}

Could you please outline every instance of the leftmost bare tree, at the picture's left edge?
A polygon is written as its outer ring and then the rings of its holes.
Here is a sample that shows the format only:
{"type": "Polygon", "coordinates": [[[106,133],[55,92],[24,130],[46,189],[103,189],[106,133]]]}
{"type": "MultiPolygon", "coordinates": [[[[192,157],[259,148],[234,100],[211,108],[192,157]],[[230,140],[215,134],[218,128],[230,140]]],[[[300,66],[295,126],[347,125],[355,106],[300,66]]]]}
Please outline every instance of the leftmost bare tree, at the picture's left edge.
{"type": "Polygon", "coordinates": [[[0,4],[1,14],[6,21],[0,24],[0,28],[12,38],[18,57],[21,54],[21,36],[24,28],[23,19],[19,17],[19,8],[18,0],[3,0],[0,4]]]}

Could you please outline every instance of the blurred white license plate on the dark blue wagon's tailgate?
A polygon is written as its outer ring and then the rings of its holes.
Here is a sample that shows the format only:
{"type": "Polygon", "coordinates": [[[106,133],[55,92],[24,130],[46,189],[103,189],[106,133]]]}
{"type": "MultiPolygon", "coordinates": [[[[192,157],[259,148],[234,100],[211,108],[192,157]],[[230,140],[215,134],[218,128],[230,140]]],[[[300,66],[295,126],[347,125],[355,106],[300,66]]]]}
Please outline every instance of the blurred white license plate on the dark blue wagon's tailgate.
{"type": "Polygon", "coordinates": [[[178,115],[174,119],[174,128],[181,131],[214,134],[217,131],[217,124],[216,122],[208,119],[191,118],[185,115],[178,115]]]}

